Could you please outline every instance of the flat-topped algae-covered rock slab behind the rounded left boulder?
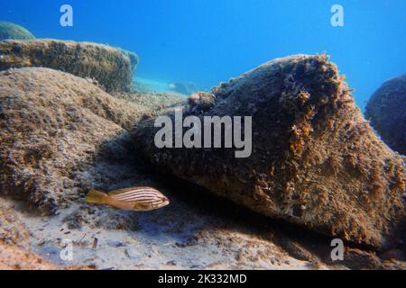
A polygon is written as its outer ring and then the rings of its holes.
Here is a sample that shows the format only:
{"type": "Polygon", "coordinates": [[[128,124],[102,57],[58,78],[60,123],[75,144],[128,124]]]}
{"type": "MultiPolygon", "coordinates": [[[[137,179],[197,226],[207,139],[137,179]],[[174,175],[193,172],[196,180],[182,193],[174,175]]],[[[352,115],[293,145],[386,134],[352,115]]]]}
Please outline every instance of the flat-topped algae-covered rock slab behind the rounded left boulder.
{"type": "Polygon", "coordinates": [[[107,92],[130,91],[138,57],[102,44],[61,40],[0,42],[0,70],[49,67],[95,79],[107,92]]]}

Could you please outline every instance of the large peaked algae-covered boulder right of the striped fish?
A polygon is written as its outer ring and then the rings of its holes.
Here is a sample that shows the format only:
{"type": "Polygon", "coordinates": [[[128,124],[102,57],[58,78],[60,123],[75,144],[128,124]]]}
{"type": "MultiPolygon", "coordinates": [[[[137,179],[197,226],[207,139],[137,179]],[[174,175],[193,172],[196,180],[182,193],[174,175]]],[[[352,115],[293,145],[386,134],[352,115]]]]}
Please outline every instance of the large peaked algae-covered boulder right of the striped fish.
{"type": "MultiPolygon", "coordinates": [[[[134,143],[162,172],[329,236],[374,247],[397,243],[404,158],[376,137],[328,58],[275,59],[214,88],[203,97],[215,97],[209,109],[210,101],[196,101],[201,96],[192,96],[183,116],[252,116],[252,155],[156,148],[161,128],[145,120],[133,130],[134,143]]],[[[175,114],[163,115],[175,122],[175,114]]]]}

